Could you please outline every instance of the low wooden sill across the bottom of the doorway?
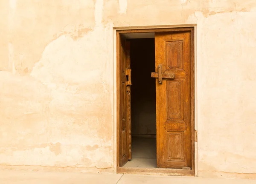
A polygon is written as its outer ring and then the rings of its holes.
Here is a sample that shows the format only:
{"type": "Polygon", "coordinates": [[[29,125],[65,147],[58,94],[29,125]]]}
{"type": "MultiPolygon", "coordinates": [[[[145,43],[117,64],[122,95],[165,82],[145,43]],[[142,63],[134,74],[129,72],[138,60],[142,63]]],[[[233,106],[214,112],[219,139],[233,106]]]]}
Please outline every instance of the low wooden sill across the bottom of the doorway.
{"type": "Polygon", "coordinates": [[[122,174],[146,174],[146,175],[179,175],[194,176],[194,170],[166,169],[166,168],[143,168],[143,167],[119,167],[117,173],[122,174]]]}

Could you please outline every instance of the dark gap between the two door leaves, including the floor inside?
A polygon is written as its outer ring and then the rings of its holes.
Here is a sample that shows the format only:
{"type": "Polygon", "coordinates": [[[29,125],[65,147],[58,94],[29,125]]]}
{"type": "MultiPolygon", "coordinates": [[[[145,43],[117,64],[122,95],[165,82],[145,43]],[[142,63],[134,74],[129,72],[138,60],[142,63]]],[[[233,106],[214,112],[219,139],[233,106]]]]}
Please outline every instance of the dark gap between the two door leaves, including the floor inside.
{"type": "Polygon", "coordinates": [[[156,83],[154,38],[129,39],[131,43],[131,153],[123,167],[157,167],[156,83]]]}

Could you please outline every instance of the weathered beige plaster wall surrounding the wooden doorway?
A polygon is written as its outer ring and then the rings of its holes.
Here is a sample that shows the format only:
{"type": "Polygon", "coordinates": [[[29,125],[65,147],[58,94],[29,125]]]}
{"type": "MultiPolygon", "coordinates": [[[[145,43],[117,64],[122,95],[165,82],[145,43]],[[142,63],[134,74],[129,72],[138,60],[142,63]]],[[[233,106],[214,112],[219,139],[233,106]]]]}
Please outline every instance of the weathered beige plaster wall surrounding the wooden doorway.
{"type": "Polygon", "coordinates": [[[2,167],[114,171],[113,27],[196,24],[198,175],[254,177],[255,0],[1,0],[0,17],[2,167]]]}

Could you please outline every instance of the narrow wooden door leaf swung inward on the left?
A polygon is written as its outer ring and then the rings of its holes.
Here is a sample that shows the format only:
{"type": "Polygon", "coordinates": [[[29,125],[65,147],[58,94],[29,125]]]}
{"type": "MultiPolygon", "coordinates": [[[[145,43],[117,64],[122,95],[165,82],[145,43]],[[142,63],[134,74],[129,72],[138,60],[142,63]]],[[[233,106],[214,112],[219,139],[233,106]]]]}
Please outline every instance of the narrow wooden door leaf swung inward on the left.
{"type": "Polygon", "coordinates": [[[131,159],[131,61],[130,42],[119,40],[119,167],[131,159]]]}

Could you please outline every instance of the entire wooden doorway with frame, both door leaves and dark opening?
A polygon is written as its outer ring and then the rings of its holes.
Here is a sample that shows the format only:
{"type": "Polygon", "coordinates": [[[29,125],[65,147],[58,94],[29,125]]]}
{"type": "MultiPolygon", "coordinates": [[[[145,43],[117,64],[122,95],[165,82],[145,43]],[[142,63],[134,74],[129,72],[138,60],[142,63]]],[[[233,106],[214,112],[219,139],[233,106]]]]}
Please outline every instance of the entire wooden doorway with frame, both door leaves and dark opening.
{"type": "Polygon", "coordinates": [[[117,172],[194,175],[194,28],[116,36],[117,172]]]}

